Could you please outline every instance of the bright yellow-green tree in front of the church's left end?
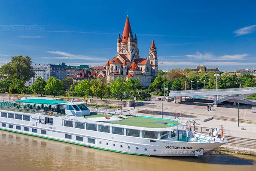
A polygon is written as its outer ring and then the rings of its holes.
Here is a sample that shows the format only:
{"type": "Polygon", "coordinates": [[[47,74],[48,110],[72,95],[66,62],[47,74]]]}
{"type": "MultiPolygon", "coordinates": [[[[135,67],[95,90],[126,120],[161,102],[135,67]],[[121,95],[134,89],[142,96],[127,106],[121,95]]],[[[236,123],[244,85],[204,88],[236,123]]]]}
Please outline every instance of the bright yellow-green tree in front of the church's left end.
{"type": "Polygon", "coordinates": [[[125,79],[122,77],[117,77],[116,80],[110,84],[111,94],[121,99],[121,101],[125,97],[126,91],[127,91],[127,87],[125,84],[125,79]]]}

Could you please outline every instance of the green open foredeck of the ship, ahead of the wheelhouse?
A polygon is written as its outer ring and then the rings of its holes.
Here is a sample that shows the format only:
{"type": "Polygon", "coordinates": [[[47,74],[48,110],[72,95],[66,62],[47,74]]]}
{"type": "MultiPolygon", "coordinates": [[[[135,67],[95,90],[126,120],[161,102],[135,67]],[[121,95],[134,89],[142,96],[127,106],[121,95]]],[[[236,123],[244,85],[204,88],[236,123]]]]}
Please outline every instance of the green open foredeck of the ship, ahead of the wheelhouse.
{"type": "MultiPolygon", "coordinates": [[[[87,118],[92,117],[106,117],[110,115],[104,114],[97,114],[91,113],[91,115],[87,115],[87,118]]],[[[147,117],[147,116],[129,116],[125,115],[127,119],[121,118],[119,115],[112,115],[122,120],[120,121],[106,121],[107,123],[113,124],[120,124],[120,125],[127,125],[127,126],[134,126],[134,127],[146,127],[146,128],[166,128],[166,127],[175,127],[180,124],[180,122],[172,120],[172,119],[165,119],[165,118],[154,118],[154,117],[147,117]]]]}

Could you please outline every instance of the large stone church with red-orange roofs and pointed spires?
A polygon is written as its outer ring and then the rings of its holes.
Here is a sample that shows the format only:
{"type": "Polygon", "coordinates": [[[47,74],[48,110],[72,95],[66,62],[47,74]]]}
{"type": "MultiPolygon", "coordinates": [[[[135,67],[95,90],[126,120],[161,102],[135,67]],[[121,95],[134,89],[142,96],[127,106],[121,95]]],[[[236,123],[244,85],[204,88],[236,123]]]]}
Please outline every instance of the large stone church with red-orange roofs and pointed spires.
{"type": "Polygon", "coordinates": [[[125,28],[120,37],[117,38],[117,52],[112,60],[108,60],[105,71],[97,74],[104,83],[111,83],[117,77],[140,79],[140,85],[148,87],[157,76],[157,51],[154,40],[149,47],[147,58],[140,58],[137,44],[137,35],[133,36],[131,25],[127,16],[125,28]]]}

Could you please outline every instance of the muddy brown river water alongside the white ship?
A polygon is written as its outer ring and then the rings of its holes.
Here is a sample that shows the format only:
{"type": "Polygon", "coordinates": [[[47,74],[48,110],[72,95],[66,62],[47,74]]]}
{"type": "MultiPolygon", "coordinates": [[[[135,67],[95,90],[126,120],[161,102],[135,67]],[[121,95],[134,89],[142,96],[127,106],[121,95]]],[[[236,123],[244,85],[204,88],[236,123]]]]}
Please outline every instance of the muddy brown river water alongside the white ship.
{"type": "Polygon", "coordinates": [[[0,171],[256,171],[256,156],[149,157],[0,130],[0,171]]]}

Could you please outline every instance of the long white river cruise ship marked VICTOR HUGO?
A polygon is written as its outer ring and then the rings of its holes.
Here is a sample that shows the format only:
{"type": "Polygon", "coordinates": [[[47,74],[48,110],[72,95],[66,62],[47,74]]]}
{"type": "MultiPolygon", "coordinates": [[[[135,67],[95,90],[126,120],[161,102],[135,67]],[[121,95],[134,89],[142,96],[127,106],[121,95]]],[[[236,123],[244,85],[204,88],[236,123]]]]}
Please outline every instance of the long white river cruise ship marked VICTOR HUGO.
{"type": "Polygon", "coordinates": [[[90,112],[83,102],[49,99],[0,102],[0,130],[144,156],[197,156],[227,143],[171,119],[90,112]]]}

